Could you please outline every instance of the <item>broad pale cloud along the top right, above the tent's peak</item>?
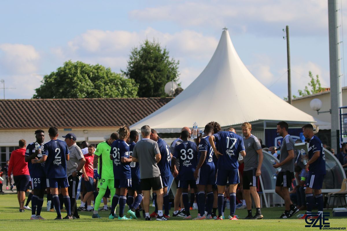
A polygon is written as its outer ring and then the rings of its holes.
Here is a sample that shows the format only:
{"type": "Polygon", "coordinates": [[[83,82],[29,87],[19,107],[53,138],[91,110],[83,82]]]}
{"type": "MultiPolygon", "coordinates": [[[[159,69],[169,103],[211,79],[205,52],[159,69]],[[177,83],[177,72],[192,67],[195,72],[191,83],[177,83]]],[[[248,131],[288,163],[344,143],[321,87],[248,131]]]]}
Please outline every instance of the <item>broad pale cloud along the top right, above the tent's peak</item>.
{"type": "MultiPolygon", "coordinates": [[[[345,2],[346,0],[344,0],[345,2]]],[[[183,27],[229,26],[232,33],[270,35],[290,25],[296,35],[325,35],[327,1],[190,1],[135,9],[129,18],[140,22],[169,21],[183,27]]]]}

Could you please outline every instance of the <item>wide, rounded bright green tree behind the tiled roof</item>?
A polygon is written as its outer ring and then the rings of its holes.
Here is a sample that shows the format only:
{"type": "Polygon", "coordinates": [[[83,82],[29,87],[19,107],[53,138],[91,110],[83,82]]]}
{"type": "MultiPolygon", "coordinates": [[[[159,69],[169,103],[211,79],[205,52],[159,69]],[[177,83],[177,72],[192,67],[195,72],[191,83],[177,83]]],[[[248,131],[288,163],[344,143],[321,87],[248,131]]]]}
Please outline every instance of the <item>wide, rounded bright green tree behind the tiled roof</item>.
{"type": "Polygon", "coordinates": [[[133,79],[110,68],[71,60],[45,75],[41,82],[33,98],[134,98],[138,91],[133,79]]]}

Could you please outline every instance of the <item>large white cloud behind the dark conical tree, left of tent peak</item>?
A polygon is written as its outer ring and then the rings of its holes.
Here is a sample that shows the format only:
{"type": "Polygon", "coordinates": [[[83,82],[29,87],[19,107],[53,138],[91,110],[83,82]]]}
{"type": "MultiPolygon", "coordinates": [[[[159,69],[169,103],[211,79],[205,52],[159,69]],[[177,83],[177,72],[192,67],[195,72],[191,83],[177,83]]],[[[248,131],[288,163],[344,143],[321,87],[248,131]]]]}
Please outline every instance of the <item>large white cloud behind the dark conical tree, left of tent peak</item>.
{"type": "Polygon", "coordinates": [[[125,70],[130,50],[138,47],[145,39],[155,39],[162,47],[167,48],[170,57],[180,61],[180,81],[183,87],[187,87],[200,74],[218,44],[215,37],[205,36],[194,30],[182,30],[172,34],[151,27],[139,32],[87,30],[71,39],[66,46],[52,48],[51,53],[60,62],[71,59],[91,64],[99,63],[119,72],[120,69],[125,70]],[[204,65],[197,73],[194,65],[200,62],[204,65]]]}

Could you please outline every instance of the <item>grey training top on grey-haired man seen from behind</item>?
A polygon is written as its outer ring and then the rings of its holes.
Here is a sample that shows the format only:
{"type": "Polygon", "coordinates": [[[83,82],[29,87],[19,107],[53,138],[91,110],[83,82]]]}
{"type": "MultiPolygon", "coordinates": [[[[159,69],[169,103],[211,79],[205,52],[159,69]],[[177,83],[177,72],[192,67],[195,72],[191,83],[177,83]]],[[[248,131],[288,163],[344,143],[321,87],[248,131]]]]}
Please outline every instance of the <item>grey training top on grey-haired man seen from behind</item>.
{"type": "Polygon", "coordinates": [[[137,158],[140,166],[140,178],[154,178],[160,176],[155,155],[160,154],[158,143],[151,139],[138,141],[133,150],[132,157],[137,158]]]}

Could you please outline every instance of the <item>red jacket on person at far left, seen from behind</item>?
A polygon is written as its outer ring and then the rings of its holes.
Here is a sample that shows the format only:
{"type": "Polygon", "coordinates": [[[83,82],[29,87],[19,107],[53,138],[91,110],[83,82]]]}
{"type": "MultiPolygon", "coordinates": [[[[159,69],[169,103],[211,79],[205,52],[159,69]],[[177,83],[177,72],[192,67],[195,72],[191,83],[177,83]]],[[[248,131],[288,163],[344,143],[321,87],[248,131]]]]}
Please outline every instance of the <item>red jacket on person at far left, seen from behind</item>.
{"type": "Polygon", "coordinates": [[[29,175],[28,163],[25,162],[25,148],[19,148],[11,153],[8,165],[8,176],[29,175]]]}

